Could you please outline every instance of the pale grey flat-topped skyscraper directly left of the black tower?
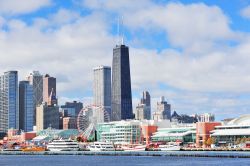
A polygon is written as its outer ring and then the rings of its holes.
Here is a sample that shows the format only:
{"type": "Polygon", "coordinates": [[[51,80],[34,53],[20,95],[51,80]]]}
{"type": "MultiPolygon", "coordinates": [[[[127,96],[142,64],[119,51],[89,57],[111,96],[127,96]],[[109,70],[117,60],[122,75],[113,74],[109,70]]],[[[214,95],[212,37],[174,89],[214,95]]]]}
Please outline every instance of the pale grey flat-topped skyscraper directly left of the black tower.
{"type": "Polygon", "coordinates": [[[94,105],[103,106],[111,116],[111,67],[94,68],[94,105]]]}

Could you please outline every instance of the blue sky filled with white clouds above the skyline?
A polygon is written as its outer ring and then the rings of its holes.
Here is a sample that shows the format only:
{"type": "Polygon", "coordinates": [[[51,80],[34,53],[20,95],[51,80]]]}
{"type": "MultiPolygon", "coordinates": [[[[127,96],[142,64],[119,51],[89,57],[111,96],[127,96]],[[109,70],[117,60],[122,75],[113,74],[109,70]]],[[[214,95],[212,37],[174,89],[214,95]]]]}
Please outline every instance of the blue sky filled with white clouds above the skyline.
{"type": "Polygon", "coordinates": [[[60,103],[90,104],[119,17],[134,109],[147,90],[153,111],[165,96],[179,114],[249,114],[250,0],[0,0],[0,73],[49,73],[60,103]]]}

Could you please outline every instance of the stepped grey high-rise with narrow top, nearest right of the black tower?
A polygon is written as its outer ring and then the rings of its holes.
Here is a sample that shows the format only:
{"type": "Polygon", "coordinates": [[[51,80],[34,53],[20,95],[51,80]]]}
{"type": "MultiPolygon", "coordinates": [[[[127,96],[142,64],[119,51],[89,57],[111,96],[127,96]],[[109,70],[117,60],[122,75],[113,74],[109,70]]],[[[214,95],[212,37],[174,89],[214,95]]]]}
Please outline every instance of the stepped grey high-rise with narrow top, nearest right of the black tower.
{"type": "Polygon", "coordinates": [[[143,120],[151,119],[151,104],[150,104],[150,94],[147,91],[142,93],[142,98],[138,106],[136,107],[136,119],[143,120]]]}

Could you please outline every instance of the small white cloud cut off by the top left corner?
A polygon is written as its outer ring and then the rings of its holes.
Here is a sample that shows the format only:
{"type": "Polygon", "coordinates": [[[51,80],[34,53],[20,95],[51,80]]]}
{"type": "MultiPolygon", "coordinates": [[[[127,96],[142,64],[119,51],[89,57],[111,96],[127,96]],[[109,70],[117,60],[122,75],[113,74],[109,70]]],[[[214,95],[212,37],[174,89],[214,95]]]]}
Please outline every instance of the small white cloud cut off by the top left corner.
{"type": "Polygon", "coordinates": [[[0,14],[25,14],[49,5],[51,0],[0,0],[0,14]]]}

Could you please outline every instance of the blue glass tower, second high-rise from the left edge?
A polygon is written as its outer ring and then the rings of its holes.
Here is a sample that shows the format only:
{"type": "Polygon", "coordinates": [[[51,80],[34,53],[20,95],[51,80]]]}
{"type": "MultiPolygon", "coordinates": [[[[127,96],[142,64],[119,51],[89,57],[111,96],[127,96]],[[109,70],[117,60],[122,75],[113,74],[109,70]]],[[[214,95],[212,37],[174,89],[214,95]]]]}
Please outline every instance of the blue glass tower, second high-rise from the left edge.
{"type": "Polygon", "coordinates": [[[32,131],[34,124],[33,86],[29,81],[19,82],[19,128],[32,131]]]}

